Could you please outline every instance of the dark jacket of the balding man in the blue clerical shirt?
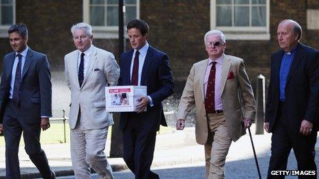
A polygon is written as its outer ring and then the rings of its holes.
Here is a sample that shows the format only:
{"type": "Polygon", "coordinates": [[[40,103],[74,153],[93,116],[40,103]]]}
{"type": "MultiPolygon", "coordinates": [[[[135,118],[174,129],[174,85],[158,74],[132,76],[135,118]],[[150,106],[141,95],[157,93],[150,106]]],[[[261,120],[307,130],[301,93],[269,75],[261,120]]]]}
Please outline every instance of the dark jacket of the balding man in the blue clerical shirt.
{"type": "MultiPolygon", "coordinates": [[[[279,71],[283,49],[272,54],[272,69],[268,88],[265,122],[270,123],[270,132],[278,117],[279,71]]],[[[314,124],[318,130],[319,106],[319,52],[306,45],[298,44],[285,87],[285,104],[289,129],[299,132],[303,119],[314,124]]]]}

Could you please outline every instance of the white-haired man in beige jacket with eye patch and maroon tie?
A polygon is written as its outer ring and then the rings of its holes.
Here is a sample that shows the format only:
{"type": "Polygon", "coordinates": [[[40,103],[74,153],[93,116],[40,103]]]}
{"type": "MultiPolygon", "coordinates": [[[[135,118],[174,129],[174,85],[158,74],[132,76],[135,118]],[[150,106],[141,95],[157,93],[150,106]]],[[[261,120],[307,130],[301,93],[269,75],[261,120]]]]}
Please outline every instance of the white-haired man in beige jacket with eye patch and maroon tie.
{"type": "Polygon", "coordinates": [[[184,129],[185,119],[195,104],[196,141],[205,145],[206,178],[224,178],[230,144],[250,127],[256,106],[243,59],[224,53],[223,32],[210,30],[204,42],[209,58],[190,69],[178,106],[176,128],[184,129]]]}

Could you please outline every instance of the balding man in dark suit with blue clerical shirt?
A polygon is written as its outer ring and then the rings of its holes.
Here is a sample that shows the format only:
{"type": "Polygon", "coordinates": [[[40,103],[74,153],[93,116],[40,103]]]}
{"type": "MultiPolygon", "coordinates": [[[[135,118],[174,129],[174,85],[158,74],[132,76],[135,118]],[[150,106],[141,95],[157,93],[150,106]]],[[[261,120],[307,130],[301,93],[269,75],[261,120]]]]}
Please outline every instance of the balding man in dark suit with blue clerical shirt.
{"type": "MultiPolygon", "coordinates": [[[[315,144],[318,131],[319,52],[300,44],[302,29],[296,21],[285,20],[278,25],[281,50],[272,54],[265,130],[272,132],[272,156],[268,178],[274,171],[285,170],[290,150],[300,171],[314,171],[315,144]]],[[[300,176],[300,178],[316,178],[300,176]]]]}

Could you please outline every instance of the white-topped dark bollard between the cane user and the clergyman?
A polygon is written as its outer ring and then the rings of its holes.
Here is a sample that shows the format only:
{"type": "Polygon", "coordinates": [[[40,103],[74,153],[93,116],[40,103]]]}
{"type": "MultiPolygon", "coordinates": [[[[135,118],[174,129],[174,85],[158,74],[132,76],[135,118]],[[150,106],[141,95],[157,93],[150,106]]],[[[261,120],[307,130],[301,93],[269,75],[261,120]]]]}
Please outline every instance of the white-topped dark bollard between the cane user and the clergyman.
{"type": "Polygon", "coordinates": [[[263,134],[263,123],[265,123],[265,77],[261,74],[257,76],[256,104],[255,134],[263,134]]]}

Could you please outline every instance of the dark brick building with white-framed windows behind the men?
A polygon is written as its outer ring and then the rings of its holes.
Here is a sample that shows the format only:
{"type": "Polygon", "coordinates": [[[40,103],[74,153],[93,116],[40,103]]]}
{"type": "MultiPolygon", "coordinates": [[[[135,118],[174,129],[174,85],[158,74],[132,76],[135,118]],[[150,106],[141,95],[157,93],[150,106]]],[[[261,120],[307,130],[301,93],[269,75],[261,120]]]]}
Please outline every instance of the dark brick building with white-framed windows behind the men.
{"type": "MultiPolygon", "coordinates": [[[[85,21],[94,26],[94,45],[112,51],[118,60],[117,3],[0,0],[0,56],[12,51],[8,27],[23,22],[30,29],[30,47],[47,54],[52,71],[63,71],[63,57],[75,49],[69,29],[85,21]]],[[[270,54],[278,49],[278,23],[298,21],[304,32],[302,43],[319,49],[318,16],[319,1],[315,0],[126,0],[126,20],[146,21],[148,43],[168,53],[177,93],[184,88],[192,64],[207,58],[203,35],[209,29],[225,32],[226,53],[245,60],[254,84],[259,73],[270,75],[270,54]]]]}

